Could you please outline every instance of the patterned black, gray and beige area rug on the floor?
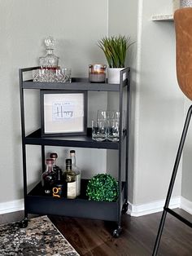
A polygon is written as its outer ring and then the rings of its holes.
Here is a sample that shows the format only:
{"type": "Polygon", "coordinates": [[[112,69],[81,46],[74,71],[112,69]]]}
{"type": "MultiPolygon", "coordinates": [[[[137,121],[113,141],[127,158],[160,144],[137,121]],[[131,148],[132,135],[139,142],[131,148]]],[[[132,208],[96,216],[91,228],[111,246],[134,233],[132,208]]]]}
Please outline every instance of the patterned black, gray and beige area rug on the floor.
{"type": "Polygon", "coordinates": [[[31,218],[25,228],[19,223],[0,225],[0,255],[80,256],[47,216],[31,218]]]}

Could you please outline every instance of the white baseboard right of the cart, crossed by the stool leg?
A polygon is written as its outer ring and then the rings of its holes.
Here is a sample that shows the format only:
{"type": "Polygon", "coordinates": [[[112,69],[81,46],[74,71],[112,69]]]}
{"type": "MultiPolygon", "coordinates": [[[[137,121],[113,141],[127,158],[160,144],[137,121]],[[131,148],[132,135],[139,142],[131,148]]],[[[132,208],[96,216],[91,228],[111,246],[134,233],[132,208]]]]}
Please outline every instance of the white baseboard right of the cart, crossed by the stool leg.
{"type": "MultiPolygon", "coordinates": [[[[128,214],[131,216],[139,217],[146,214],[154,214],[164,210],[164,200],[154,201],[143,205],[132,205],[129,203],[128,214]]],[[[169,208],[180,208],[181,196],[173,197],[170,201],[169,208]]]]}

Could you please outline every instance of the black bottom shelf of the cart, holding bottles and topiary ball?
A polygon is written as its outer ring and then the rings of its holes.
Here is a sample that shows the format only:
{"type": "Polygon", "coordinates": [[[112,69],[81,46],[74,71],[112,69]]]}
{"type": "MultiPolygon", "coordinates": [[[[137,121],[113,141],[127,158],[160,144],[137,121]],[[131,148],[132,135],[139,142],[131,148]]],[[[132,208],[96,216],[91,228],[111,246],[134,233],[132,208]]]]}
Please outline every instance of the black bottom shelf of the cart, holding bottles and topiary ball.
{"type": "MultiPolygon", "coordinates": [[[[118,221],[118,201],[90,201],[86,196],[89,179],[81,180],[81,196],[76,199],[44,196],[41,183],[26,196],[25,210],[28,214],[60,215],[118,221]]],[[[124,210],[124,183],[122,183],[121,209],[124,210]]]]}

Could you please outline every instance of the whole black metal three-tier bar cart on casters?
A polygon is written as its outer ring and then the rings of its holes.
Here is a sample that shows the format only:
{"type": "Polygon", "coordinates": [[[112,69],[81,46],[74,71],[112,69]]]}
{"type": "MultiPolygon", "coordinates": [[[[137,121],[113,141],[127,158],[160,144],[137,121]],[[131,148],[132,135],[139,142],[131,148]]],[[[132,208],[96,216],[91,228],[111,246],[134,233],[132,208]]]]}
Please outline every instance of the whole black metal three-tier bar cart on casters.
{"type": "Polygon", "coordinates": [[[28,225],[28,214],[63,215],[81,218],[95,218],[117,223],[113,236],[120,236],[121,214],[128,210],[128,166],[129,166],[129,123],[130,123],[130,68],[124,68],[120,73],[120,84],[89,83],[88,78],[72,78],[72,83],[59,82],[33,82],[24,81],[24,73],[32,72],[33,68],[20,69],[20,112],[22,129],[22,152],[23,152],[23,179],[24,179],[24,220],[20,223],[22,227],[28,225]],[[123,81],[124,74],[126,79],[123,81]],[[119,142],[96,142],[91,139],[91,128],[87,128],[86,135],[75,136],[41,136],[41,128],[26,135],[25,113],[24,113],[24,90],[78,90],[78,91],[117,91],[120,99],[120,141],[119,142]],[[126,117],[127,126],[123,128],[123,94],[126,93],[126,117]],[[118,192],[119,196],[115,202],[89,201],[86,196],[86,186],[89,179],[81,179],[81,196],[76,199],[45,196],[42,192],[41,183],[28,192],[27,183],[27,157],[26,145],[39,145],[41,147],[41,168],[45,166],[45,147],[75,147],[75,148],[103,148],[118,151],[118,192]],[[122,162],[124,155],[124,163],[122,162]],[[125,178],[122,179],[124,170],[125,178]]]}

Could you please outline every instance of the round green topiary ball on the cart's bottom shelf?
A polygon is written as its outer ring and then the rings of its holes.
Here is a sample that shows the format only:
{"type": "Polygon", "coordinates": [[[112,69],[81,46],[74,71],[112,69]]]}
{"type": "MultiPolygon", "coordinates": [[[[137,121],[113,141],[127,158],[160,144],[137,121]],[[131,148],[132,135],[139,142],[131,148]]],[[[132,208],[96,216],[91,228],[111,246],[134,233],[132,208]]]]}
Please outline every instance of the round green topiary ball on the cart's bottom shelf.
{"type": "Polygon", "coordinates": [[[87,184],[86,195],[94,201],[116,201],[118,183],[110,174],[96,174],[87,184]]]}

